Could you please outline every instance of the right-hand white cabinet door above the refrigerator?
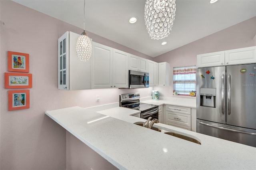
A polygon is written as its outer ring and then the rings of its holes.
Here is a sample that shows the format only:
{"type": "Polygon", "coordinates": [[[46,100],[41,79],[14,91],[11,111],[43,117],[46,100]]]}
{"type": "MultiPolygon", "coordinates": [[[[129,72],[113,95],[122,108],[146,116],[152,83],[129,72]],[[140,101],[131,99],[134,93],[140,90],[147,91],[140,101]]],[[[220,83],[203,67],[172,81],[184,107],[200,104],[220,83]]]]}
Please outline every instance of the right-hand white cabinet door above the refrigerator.
{"type": "Polygon", "coordinates": [[[225,51],[226,65],[256,63],[256,46],[225,51]]]}

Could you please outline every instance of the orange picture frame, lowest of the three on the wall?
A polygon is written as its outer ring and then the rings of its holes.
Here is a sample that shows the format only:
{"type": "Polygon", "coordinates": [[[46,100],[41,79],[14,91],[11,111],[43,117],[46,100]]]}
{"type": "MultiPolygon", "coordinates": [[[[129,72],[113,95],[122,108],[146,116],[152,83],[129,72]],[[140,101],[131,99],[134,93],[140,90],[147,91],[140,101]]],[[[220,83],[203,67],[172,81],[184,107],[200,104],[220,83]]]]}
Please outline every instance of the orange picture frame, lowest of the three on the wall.
{"type": "Polygon", "coordinates": [[[8,91],[8,110],[28,109],[30,107],[29,90],[9,90],[8,91]]]}

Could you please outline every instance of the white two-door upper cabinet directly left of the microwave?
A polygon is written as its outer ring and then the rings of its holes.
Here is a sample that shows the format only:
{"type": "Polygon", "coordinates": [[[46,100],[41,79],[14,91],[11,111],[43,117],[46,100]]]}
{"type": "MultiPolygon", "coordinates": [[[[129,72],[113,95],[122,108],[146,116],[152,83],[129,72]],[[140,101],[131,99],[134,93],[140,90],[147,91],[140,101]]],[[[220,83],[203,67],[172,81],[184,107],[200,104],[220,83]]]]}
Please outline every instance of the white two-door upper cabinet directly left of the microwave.
{"type": "Polygon", "coordinates": [[[92,89],[128,87],[128,53],[92,44],[92,89]]]}

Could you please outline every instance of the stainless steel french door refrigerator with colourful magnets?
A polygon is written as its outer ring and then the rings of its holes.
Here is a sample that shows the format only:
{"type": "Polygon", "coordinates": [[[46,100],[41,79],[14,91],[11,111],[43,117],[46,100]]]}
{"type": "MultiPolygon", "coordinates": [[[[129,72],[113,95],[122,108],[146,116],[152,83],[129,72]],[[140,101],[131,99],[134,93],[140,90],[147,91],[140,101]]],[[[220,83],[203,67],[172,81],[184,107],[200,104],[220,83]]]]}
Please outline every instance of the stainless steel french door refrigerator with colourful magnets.
{"type": "Polygon", "coordinates": [[[256,64],[196,70],[196,131],[256,147],[256,64]]]}

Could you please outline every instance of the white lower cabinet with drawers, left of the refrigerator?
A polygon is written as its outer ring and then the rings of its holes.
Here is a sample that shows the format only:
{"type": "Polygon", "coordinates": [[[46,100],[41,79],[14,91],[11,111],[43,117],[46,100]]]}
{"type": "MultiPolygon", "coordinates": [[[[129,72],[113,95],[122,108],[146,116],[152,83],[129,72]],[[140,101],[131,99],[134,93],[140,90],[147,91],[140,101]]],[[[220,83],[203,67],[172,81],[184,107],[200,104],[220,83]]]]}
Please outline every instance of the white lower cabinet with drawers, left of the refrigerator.
{"type": "Polygon", "coordinates": [[[165,124],[191,130],[191,108],[165,105],[165,124]]]}

